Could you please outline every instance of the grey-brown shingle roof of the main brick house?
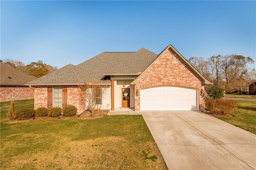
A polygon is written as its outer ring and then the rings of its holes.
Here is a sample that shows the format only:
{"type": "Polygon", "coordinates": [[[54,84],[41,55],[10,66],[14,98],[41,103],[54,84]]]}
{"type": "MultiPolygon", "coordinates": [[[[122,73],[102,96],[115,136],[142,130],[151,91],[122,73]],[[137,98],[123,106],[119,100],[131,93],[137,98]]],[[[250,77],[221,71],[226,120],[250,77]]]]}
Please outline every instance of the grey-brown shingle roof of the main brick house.
{"type": "Polygon", "coordinates": [[[110,80],[101,80],[103,74],[138,74],[143,72],[157,56],[144,48],[136,52],[104,52],[77,66],[68,64],[29,84],[76,85],[90,82],[110,84],[110,80]]]}

